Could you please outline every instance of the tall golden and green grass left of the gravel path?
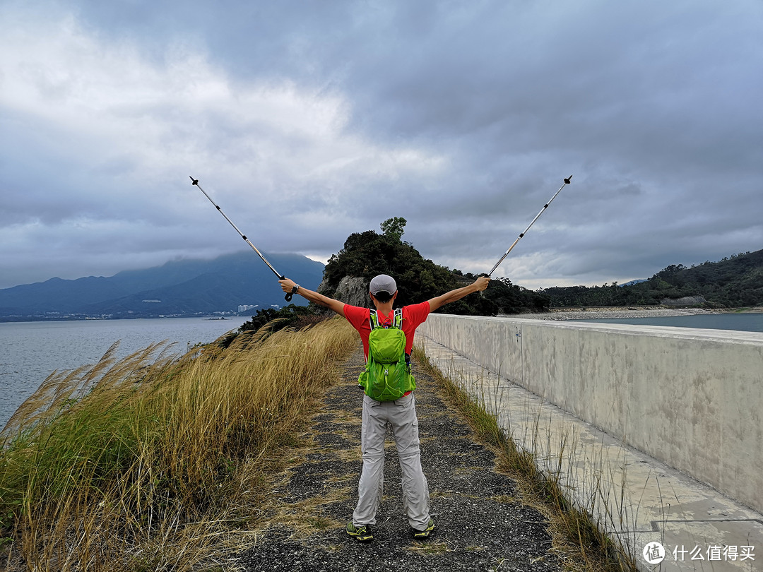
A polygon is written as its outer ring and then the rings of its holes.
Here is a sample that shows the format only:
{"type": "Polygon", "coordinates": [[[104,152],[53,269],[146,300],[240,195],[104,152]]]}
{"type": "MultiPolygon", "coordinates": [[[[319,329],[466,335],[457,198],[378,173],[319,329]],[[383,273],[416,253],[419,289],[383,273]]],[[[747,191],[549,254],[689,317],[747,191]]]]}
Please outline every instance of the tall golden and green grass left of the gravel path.
{"type": "Polygon", "coordinates": [[[256,522],[265,470],[356,333],[344,320],[157,344],[52,374],[2,432],[9,570],[188,570],[256,522]]]}

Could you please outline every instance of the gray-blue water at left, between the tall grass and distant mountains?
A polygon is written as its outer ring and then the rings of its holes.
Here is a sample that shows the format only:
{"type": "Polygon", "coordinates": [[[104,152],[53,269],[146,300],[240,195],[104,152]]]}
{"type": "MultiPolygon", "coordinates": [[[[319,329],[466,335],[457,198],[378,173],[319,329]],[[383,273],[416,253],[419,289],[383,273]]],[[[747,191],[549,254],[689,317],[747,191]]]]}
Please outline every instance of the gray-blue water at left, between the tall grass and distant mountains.
{"type": "Polygon", "coordinates": [[[227,320],[82,320],[0,323],[0,429],[16,408],[55,370],[98,362],[114,342],[122,358],[155,342],[174,342],[170,351],[212,342],[249,317],[227,320]]]}

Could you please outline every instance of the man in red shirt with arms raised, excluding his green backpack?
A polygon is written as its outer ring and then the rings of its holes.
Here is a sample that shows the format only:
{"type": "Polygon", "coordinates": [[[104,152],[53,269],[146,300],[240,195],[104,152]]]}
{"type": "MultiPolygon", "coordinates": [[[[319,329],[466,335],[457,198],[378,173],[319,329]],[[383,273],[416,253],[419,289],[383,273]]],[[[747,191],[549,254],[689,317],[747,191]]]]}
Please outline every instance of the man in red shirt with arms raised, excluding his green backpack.
{"type": "MultiPolygon", "coordinates": [[[[463,288],[456,288],[421,304],[404,306],[401,329],[406,338],[405,354],[410,355],[416,328],[427,320],[430,312],[444,304],[461,300],[472,292],[485,290],[489,282],[489,277],[480,277],[463,288]]],[[[368,360],[371,310],[350,306],[307,290],[288,278],[279,280],[278,283],[281,284],[283,291],[300,294],[307,300],[327,307],[346,318],[358,330],[363,342],[365,359],[368,360]]],[[[398,286],[394,278],[384,274],[376,276],[369,284],[369,294],[376,308],[379,325],[391,325],[394,319],[394,300],[398,297],[398,286]]],[[[409,391],[394,401],[376,401],[364,395],[361,426],[363,468],[358,483],[358,504],[353,513],[353,519],[347,523],[347,534],[361,542],[371,541],[374,538],[372,526],[376,524],[376,510],[381,503],[381,491],[384,484],[384,445],[387,423],[392,428],[395,446],[398,449],[402,471],[403,505],[414,538],[427,538],[434,529],[434,521],[430,516],[427,477],[424,477],[421,470],[414,393],[409,391]]]]}

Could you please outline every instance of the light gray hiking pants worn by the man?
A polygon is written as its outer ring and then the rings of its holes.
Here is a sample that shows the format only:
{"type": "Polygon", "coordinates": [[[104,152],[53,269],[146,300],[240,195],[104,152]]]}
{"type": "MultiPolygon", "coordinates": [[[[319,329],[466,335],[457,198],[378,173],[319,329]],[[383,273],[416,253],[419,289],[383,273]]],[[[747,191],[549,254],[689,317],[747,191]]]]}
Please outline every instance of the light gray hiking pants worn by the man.
{"type": "Polygon", "coordinates": [[[408,523],[418,530],[429,523],[429,489],[421,470],[416,398],[411,393],[395,401],[375,401],[363,395],[361,451],[363,470],[358,483],[358,506],[353,522],[376,524],[376,510],[384,487],[384,445],[387,423],[394,434],[402,472],[403,506],[408,523]]]}

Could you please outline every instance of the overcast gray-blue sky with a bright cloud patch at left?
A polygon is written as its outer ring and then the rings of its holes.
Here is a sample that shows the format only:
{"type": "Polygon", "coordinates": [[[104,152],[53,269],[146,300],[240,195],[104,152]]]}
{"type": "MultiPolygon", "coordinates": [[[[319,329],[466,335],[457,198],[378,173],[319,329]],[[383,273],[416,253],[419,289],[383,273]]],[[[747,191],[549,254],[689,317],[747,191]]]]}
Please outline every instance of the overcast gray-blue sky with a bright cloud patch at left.
{"type": "MultiPolygon", "coordinates": [[[[526,288],[763,248],[763,2],[0,0],[0,288],[407,219],[526,288]]],[[[253,254],[253,264],[262,262],[253,254]]],[[[275,278],[275,277],[274,277],[275,278]]],[[[317,284],[314,284],[317,286],[317,284]]]]}

